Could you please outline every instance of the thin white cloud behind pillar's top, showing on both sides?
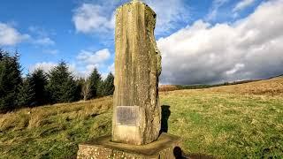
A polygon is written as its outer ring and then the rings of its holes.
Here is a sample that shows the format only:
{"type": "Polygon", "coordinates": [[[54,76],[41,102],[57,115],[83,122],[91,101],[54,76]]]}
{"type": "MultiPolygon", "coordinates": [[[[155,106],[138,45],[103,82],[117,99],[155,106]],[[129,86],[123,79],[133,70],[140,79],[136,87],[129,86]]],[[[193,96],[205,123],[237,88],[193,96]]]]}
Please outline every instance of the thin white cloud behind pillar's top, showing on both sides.
{"type": "MultiPolygon", "coordinates": [[[[128,1],[103,1],[103,4],[84,3],[74,10],[73,23],[77,32],[84,34],[113,32],[115,9],[128,1]]],[[[168,32],[189,20],[189,7],[185,0],[144,0],[157,12],[157,34],[168,32]]]]}

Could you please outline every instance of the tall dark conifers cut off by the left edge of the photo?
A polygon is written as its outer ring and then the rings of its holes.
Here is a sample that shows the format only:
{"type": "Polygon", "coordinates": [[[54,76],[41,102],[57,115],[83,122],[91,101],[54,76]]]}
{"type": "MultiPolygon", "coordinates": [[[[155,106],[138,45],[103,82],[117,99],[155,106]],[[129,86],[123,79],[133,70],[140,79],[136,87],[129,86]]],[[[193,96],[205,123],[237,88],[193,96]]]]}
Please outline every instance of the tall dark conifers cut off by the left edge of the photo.
{"type": "Polygon", "coordinates": [[[0,111],[15,108],[21,83],[19,53],[12,57],[0,49],[0,111]]]}

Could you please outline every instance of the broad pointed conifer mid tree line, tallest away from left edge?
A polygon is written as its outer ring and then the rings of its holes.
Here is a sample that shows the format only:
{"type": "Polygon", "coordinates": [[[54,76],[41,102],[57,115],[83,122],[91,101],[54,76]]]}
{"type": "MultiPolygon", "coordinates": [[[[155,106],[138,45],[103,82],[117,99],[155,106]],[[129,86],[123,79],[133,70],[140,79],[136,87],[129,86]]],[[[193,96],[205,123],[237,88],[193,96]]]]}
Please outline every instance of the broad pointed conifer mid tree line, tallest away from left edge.
{"type": "Polygon", "coordinates": [[[48,76],[51,102],[74,102],[78,100],[78,86],[65,62],[60,62],[50,71],[48,76]]]}

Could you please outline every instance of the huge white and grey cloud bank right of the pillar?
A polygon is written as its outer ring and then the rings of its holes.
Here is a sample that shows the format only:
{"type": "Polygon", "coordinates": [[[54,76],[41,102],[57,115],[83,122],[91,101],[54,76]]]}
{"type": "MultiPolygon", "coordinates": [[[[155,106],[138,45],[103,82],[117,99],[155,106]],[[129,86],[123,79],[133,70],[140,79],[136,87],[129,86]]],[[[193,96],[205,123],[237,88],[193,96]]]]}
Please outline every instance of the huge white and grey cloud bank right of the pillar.
{"type": "Polygon", "coordinates": [[[163,55],[161,82],[217,83],[282,74],[283,0],[260,4],[233,24],[192,26],[157,41],[163,55]]]}

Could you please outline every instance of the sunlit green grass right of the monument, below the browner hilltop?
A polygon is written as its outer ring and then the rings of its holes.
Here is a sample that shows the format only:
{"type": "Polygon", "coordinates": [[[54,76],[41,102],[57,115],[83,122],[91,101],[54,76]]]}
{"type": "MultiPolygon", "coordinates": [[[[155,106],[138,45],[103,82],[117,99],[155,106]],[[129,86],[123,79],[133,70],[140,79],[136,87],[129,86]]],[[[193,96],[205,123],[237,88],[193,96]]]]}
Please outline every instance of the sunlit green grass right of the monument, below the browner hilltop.
{"type": "Polygon", "coordinates": [[[283,99],[175,91],[161,101],[171,106],[169,133],[187,153],[283,157],[283,99]]]}

